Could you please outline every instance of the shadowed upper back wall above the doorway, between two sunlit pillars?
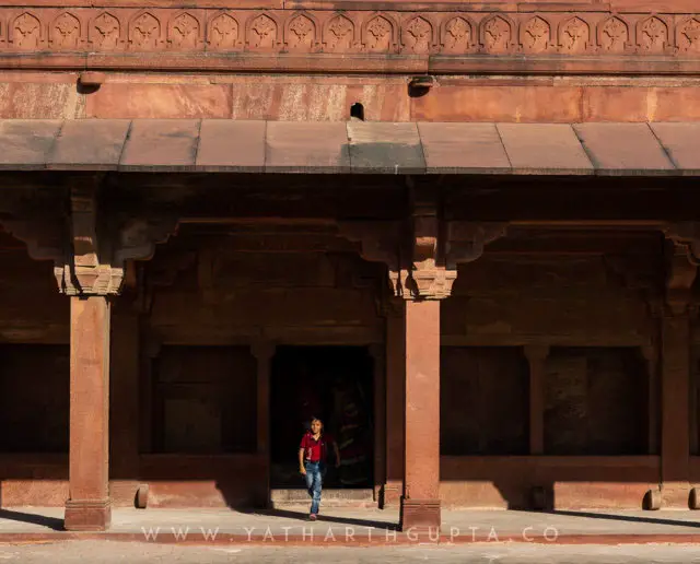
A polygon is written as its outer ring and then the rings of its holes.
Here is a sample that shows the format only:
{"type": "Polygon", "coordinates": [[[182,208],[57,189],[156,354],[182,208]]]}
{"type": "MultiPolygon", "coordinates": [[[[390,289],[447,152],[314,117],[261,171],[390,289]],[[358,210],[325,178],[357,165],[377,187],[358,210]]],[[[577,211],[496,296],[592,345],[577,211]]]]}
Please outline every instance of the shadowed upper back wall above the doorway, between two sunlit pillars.
{"type": "Polygon", "coordinates": [[[202,249],[172,286],[154,287],[149,332],[187,344],[381,342],[377,273],[357,256],[202,249]]]}

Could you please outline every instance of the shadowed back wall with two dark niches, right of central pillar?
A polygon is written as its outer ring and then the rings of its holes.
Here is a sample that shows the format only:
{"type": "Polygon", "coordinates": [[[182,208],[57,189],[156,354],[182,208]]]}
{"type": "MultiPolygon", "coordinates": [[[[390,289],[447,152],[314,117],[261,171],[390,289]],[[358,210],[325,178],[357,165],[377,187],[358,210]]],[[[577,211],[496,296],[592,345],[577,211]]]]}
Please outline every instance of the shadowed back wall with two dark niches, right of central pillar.
{"type": "Polygon", "coordinates": [[[498,443],[466,457],[443,450],[445,505],[528,507],[538,486],[556,507],[641,506],[660,472],[658,459],[648,456],[648,415],[658,398],[650,403],[641,355],[657,320],[639,284],[649,275],[645,268],[620,270],[616,263],[605,255],[487,251],[460,268],[455,295],[442,306],[443,445],[469,449],[474,436],[483,442],[500,432],[505,440],[515,430],[525,439],[511,443],[510,451],[498,443]],[[551,346],[544,380],[546,457],[528,456],[529,371],[515,362],[525,360],[524,345],[551,346]],[[490,356],[490,365],[480,355],[490,356]],[[498,423],[483,432],[490,416],[498,423]]]}

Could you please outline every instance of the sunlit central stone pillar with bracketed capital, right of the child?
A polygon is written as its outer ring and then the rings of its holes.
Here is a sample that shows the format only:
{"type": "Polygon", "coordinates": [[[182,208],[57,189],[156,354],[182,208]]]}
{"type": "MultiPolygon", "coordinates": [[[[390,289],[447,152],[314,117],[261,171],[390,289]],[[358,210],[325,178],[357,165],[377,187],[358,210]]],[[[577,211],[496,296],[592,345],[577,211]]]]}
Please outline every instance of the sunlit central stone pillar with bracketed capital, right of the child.
{"type": "Polygon", "coordinates": [[[457,266],[477,260],[486,245],[505,235],[503,223],[445,221],[432,183],[407,178],[410,216],[405,222],[345,222],[346,238],[359,242],[364,259],[383,262],[405,301],[405,326],[387,318],[387,481],[392,504],[398,474],[404,410],[402,530],[440,528],[440,303],[448,297],[457,266]],[[402,330],[402,334],[401,334],[402,330]],[[405,346],[405,362],[399,363],[405,346]],[[402,367],[399,365],[402,364],[402,367]],[[404,372],[405,388],[399,377],[404,372]],[[400,403],[399,403],[400,401],[400,403]]]}

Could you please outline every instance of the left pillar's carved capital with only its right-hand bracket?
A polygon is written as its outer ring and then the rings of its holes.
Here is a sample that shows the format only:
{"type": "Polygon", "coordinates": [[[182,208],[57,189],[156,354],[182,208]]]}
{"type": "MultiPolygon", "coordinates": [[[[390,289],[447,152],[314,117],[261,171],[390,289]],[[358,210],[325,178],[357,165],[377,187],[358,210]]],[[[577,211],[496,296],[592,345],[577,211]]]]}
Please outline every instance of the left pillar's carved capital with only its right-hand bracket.
{"type": "Polygon", "coordinates": [[[59,290],[67,295],[118,294],[127,260],[148,260],[155,245],[177,228],[176,218],[129,218],[119,222],[101,213],[97,183],[71,180],[70,251],[55,268],[59,290]]]}

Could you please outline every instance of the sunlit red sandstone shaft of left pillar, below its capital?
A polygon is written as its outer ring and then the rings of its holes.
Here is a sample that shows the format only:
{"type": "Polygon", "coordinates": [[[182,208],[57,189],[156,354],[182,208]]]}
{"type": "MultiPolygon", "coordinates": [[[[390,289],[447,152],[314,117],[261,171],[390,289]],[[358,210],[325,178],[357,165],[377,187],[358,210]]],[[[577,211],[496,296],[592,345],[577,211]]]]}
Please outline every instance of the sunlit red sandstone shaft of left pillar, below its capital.
{"type": "Polygon", "coordinates": [[[71,297],[68,530],[109,527],[109,304],[71,297]]]}

